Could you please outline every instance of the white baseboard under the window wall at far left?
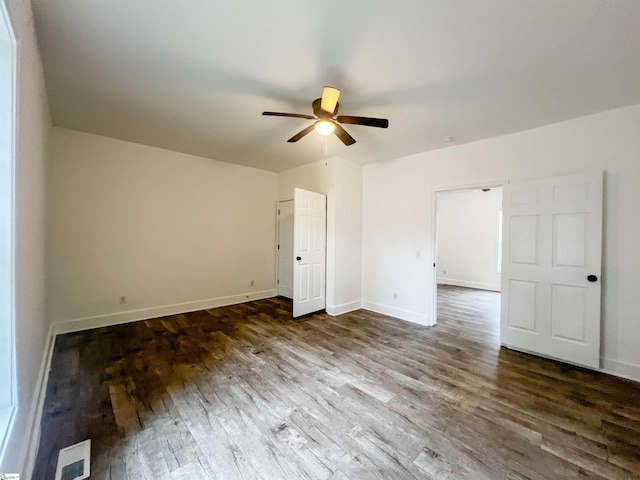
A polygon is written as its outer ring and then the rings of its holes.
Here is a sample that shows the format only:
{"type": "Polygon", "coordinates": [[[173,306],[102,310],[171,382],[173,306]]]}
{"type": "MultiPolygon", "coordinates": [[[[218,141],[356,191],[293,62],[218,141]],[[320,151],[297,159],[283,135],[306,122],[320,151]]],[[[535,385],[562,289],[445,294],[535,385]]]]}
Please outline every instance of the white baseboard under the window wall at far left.
{"type": "Polygon", "coordinates": [[[27,432],[31,434],[27,437],[27,455],[25,458],[23,472],[25,479],[33,476],[33,469],[36,464],[36,455],[38,453],[38,444],[40,443],[40,420],[44,410],[44,400],[47,394],[47,383],[49,382],[49,371],[51,370],[51,359],[53,357],[53,347],[55,345],[55,333],[53,325],[49,327],[47,334],[47,344],[40,364],[38,372],[38,382],[36,384],[35,395],[31,402],[29,410],[29,422],[27,423],[27,432]]]}

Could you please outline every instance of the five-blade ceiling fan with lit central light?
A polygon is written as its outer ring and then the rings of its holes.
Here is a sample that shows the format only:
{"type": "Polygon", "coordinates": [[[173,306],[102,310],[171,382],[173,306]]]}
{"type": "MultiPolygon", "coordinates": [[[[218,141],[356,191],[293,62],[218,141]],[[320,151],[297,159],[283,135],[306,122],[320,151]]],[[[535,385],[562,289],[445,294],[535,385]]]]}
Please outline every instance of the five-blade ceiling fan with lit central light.
{"type": "Polygon", "coordinates": [[[297,142],[306,134],[312,130],[317,131],[320,135],[331,135],[335,133],[336,136],[342,140],[345,145],[353,145],[356,143],[355,138],[347,133],[342,128],[341,123],[348,123],[351,125],[365,125],[367,127],[387,128],[389,126],[389,120],[386,118],[373,118],[373,117],[353,117],[351,115],[337,115],[340,104],[338,98],[340,97],[340,90],[333,87],[323,87],[322,97],[316,98],[312,102],[313,115],[304,115],[302,113],[282,113],[282,112],[262,112],[263,115],[270,115],[274,117],[294,117],[294,118],[306,118],[308,120],[315,120],[312,125],[309,125],[304,130],[296,133],[291,137],[288,142],[297,142]],[[337,116],[336,116],[337,115],[337,116]]]}

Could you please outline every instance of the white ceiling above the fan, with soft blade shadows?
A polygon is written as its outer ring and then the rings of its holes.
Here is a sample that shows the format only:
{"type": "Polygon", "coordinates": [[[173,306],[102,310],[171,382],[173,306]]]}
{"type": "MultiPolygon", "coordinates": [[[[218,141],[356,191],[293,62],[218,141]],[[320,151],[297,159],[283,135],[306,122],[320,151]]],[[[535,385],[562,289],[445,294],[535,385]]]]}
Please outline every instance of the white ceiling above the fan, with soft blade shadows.
{"type": "Polygon", "coordinates": [[[640,1],[33,0],[56,126],[282,171],[322,158],[323,85],[360,163],[640,102],[640,1]]]}

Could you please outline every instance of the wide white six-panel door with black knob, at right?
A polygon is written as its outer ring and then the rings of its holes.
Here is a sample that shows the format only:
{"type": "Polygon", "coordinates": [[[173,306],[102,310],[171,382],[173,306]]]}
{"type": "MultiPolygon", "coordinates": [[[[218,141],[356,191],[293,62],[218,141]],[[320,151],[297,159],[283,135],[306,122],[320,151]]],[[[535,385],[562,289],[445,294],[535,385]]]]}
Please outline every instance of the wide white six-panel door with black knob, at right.
{"type": "Polygon", "coordinates": [[[598,368],[602,173],[503,193],[501,343],[598,368]]]}

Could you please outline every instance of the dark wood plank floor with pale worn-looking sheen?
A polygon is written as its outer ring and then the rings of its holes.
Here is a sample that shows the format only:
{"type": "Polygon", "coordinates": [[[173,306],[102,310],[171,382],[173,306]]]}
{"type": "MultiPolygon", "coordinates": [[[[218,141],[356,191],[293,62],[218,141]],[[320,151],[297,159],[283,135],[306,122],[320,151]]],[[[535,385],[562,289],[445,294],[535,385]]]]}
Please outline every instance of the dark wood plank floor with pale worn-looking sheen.
{"type": "Polygon", "coordinates": [[[58,336],[34,479],[640,478],[640,384],[507,349],[499,295],[428,328],[269,299],[58,336]]]}

